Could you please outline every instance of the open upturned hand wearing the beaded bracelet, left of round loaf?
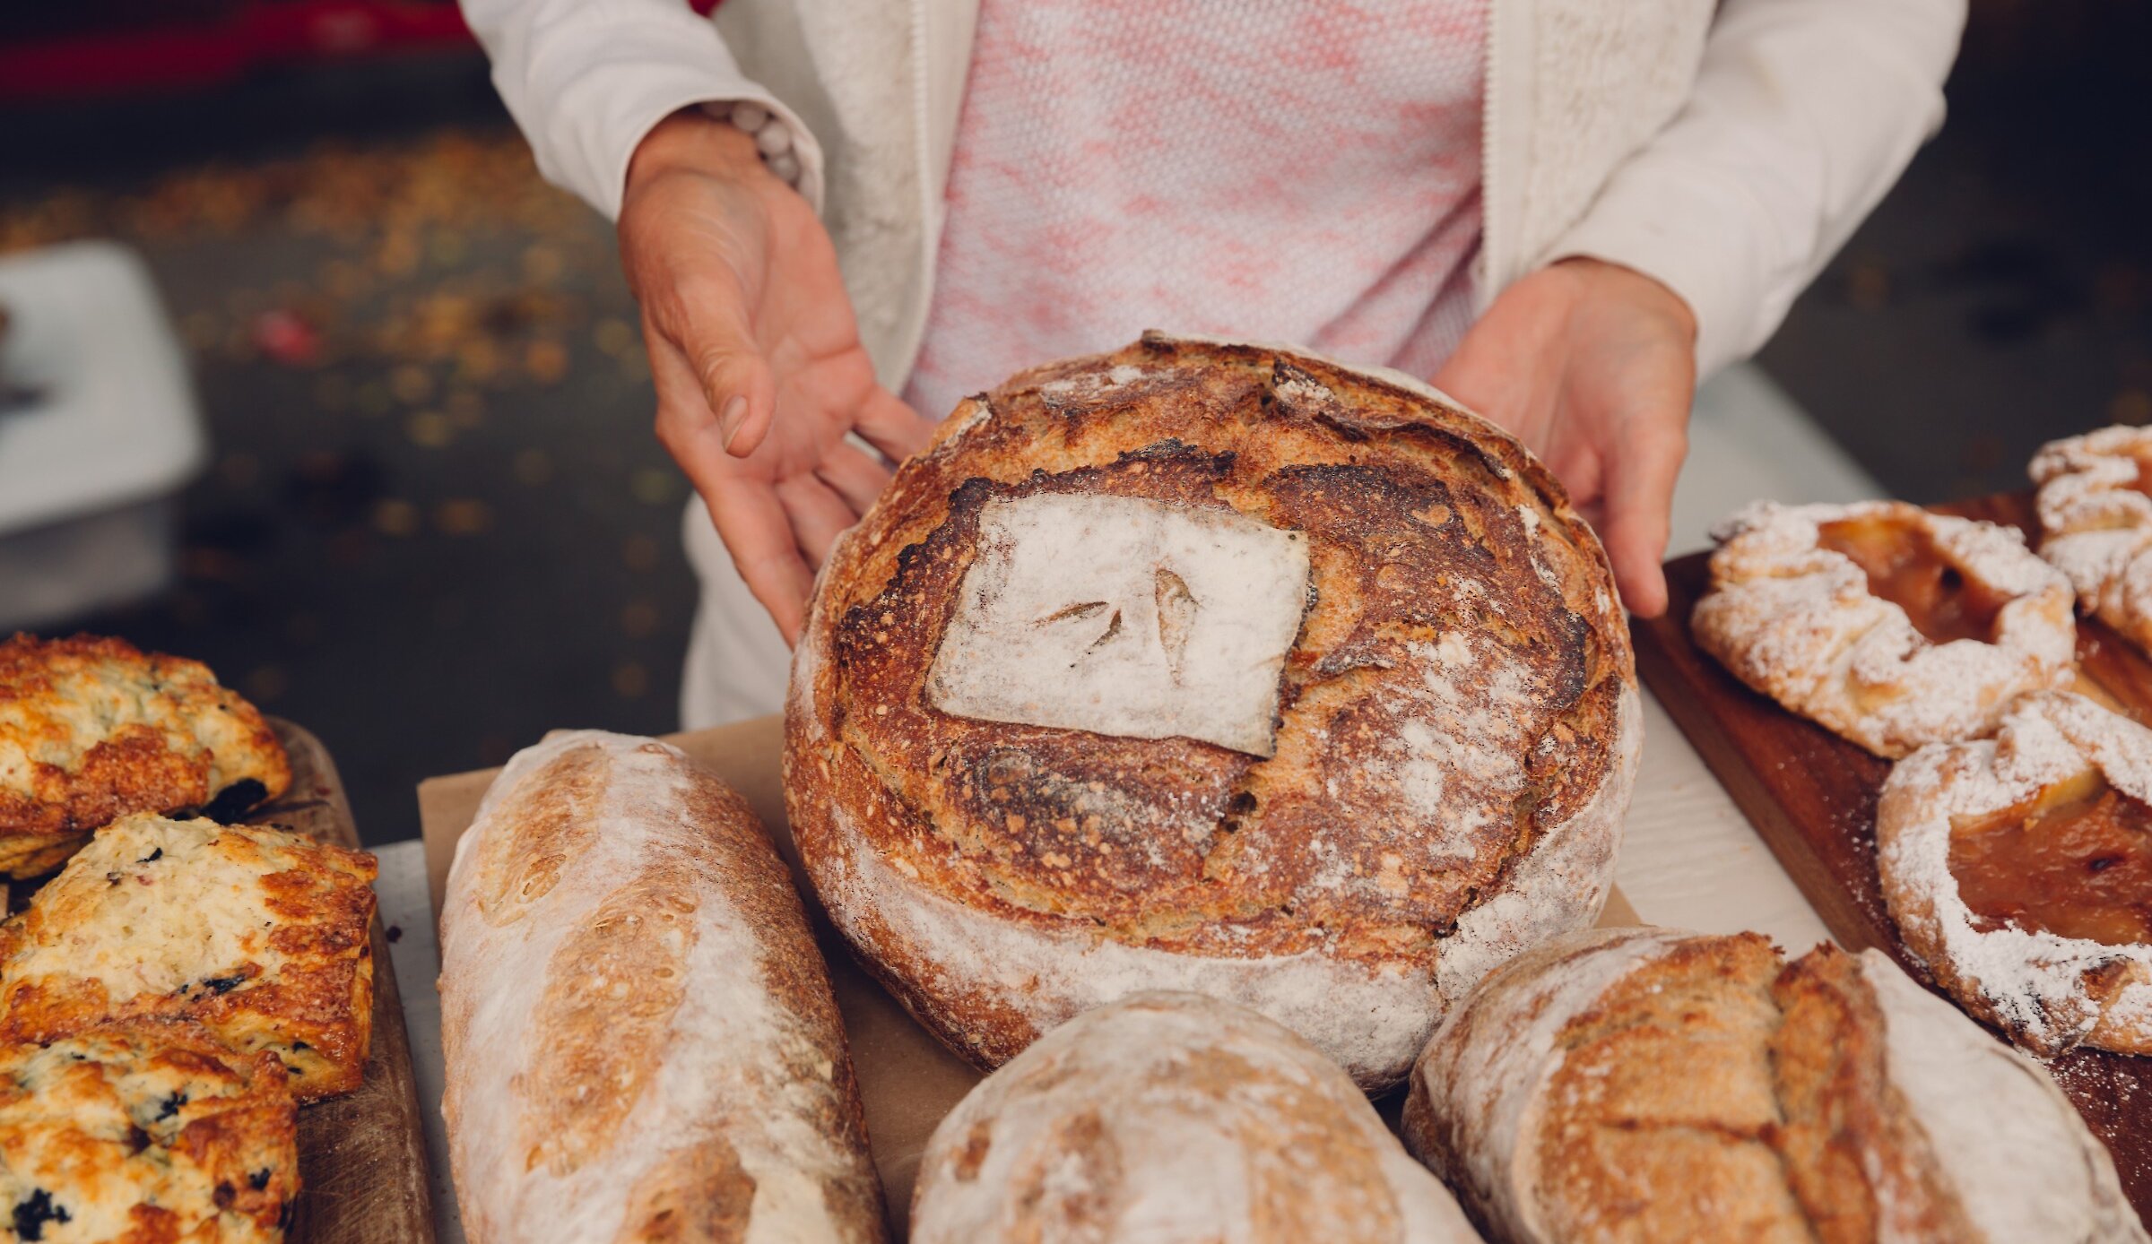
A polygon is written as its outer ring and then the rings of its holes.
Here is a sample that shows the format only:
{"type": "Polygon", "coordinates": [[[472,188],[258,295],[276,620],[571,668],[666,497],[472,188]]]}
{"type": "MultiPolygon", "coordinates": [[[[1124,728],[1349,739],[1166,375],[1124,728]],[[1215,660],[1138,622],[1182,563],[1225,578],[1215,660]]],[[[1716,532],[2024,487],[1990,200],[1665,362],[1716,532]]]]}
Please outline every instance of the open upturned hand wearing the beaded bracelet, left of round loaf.
{"type": "Polygon", "coordinates": [[[628,164],[620,260],[643,306],[659,441],[798,641],[831,540],[934,424],[876,383],[829,232],[747,133],[697,112],[659,123],[628,164]]]}

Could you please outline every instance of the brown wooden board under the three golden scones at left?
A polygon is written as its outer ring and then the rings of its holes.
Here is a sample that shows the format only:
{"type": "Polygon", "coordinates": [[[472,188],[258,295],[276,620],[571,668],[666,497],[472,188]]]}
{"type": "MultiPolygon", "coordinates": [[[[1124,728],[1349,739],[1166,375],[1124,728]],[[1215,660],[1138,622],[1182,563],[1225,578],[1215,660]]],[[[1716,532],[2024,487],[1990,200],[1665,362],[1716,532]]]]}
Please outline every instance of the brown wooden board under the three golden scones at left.
{"type": "MultiPolygon", "coordinates": [[[[351,801],[321,740],[269,719],[291,753],[291,790],[247,822],[278,824],[357,848],[351,801]]],[[[288,1244],[433,1244],[426,1141],[402,999],[381,921],[372,930],[374,1033],[357,1091],[299,1108],[299,1214],[288,1244]]]]}

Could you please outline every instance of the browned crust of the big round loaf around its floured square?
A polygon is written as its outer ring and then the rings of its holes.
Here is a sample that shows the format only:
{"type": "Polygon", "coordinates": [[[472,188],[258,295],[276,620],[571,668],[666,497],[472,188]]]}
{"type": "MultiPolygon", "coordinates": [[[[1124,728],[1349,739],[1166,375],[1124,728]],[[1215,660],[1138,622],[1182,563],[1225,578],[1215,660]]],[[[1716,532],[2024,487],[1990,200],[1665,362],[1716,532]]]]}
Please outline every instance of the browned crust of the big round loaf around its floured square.
{"type": "MultiPolygon", "coordinates": [[[[1130,641],[1123,626],[1156,635],[1179,678],[1175,661],[1203,654],[1177,646],[1231,622],[1203,613],[1181,570],[1160,557],[1145,579],[1156,600],[1091,600],[1072,581],[1035,624],[1095,631],[1093,650],[1130,641]]],[[[994,644],[966,652],[994,661],[994,644]]],[[[1042,999],[1050,984],[934,962],[897,910],[861,897],[863,878],[893,870],[904,904],[1044,936],[1214,960],[1313,953],[1429,981],[1459,921],[1504,895],[1543,839],[1625,803],[1631,699],[1599,542],[1511,437],[1321,359],[1145,338],[966,400],[839,542],[794,667],[788,798],[839,925],[915,1014],[999,1063],[1076,1005],[1042,999]],[[938,661],[977,605],[971,572],[1022,557],[999,542],[1005,514],[1050,497],[1138,499],[1169,525],[1250,521],[1304,542],[1268,738],[938,708],[938,661]]],[[[1571,908],[1560,928],[1590,923],[1603,900],[1612,824],[1588,835],[1597,846],[1556,887],[1567,897],[1534,900],[1571,908]]],[[[1033,966],[1011,971],[1042,977],[1033,966]]],[[[1179,981],[1130,981],[1145,984],[1179,981]]]]}

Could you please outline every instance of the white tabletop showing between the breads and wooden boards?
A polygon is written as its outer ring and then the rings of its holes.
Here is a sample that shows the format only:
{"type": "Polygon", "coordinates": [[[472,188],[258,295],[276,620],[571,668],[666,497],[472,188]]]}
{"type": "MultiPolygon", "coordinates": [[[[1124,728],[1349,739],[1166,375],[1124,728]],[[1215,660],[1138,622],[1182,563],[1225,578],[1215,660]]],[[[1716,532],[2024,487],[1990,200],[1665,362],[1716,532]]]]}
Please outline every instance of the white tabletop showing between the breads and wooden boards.
{"type": "MultiPolygon", "coordinates": [[[[1730,368],[1696,398],[1689,463],[1674,493],[1672,549],[1704,547],[1711,523],[1758,497],[1855,501],[1881,495],[1877,482],[1762,372],[1730,368]]],[[[411,1031],[426,1151],[433,1158],[435,1222],[443,1244],[461,1244],[441,1132],[441,1001],[433,988],[441,969],[426,900],[426,861],[415,839],[377,854],[381,921],[398,930],[390,958],[411,1031]]],[[[1644,755],[1616,882],[1646,923],[1700,932],[1756,930],[1795,953],[1829,941],[1771,848],[1648,691],[1644,755]]]]}

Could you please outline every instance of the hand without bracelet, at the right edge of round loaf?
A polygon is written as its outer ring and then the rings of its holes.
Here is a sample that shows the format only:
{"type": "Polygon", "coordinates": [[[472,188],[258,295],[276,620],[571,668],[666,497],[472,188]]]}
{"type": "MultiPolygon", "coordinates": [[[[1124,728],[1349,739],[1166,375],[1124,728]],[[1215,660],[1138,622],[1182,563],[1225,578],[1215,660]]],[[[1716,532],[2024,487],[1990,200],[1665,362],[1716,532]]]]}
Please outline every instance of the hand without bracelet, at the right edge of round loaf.
{"type": "Polygon", "coordinates": [[[1638,271],[1567,258],[1502,291],[1435,387],[1545,458],[1599,527],[1623,603],[1666,611],[1659,560],[1696,396],[1689,303],[1638,271]]]}

